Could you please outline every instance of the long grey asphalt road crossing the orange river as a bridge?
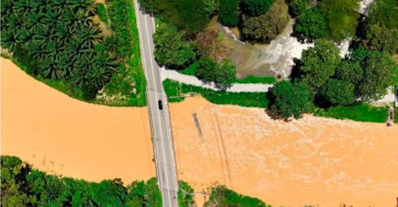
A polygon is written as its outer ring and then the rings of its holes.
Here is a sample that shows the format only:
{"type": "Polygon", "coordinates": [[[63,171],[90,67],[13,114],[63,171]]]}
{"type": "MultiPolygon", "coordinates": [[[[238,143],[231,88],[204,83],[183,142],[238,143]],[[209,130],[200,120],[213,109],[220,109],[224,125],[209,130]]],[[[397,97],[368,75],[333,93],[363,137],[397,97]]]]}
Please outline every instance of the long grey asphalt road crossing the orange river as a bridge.
{"type": "Polygon", "coordinates": [[[156,174],[162,191],[163,206],[178,207],[178,181],[167,97],[163,90],[160,69],[153,55],[152,35],[155,31],[155,22],[154,18],[139,10],[137,0],[134,0],[134,7],[140,35],[141,61],[147,82],[146,96],[150,113],[156,174]],[[158,107],[159,100],[162,100],[163,103],[162,110],[158,107]]]}

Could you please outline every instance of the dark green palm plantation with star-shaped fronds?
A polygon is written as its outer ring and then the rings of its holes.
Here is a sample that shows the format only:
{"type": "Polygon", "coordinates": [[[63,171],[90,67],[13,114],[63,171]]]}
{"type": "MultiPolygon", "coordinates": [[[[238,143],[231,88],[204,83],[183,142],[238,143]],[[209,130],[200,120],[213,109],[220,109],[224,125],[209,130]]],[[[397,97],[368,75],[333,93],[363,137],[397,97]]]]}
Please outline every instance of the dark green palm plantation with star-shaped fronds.
{"type": "MultiPolygon", "coordinates": [[[[94,0],[0,0],[0,47],[28,59],[32,75],[66,80],[92,96],[112,77],[117,47],[92,21],[94,0]],[[110,43],[111,44],[111,43],[110,43]]],[[[111,40],[111,38],[110,38],[111,40]]]]}

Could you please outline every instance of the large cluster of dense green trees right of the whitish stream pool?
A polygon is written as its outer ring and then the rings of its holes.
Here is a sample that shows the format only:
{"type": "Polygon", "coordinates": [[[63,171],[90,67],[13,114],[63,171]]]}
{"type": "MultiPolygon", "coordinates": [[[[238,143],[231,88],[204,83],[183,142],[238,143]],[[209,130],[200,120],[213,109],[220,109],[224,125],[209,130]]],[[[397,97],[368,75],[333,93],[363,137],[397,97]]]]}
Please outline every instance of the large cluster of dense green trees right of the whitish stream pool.
{"type": "Polygon", "coordinates": [[[351,119],[385,121],[382,114],[386,110],[374,113],[379,117],[362,114],[372,111],[364,103],[382,98],[388,86],[397,84],[398,66],[392,58],[398,49],[397,5],[395,0],[376,0],[368,15],[360,17],[357,0],[291,1],[291,13],[298,16],[296,34],[314,41],[315,47],[303,51],[301,60],[296,61],[291,83],[275,85],[269,107],[285,119],[315,111],[332,117],[345,113],[351,119]],[[333,40],[347,37],[353,39],[350,54],[341,58],[333,40]],[[326,114],[324,110],[329,108],[339,113],[326,114]],[[359,117],[353,117],[351,109],[359,117]]]}

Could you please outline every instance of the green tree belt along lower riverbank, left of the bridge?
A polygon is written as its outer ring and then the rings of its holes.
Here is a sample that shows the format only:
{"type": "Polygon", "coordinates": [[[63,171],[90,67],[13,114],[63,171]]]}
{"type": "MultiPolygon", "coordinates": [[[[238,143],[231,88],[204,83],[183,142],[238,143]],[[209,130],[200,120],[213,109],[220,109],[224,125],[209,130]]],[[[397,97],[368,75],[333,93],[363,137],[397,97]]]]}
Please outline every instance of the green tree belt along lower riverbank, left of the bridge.
{"type": "Polygon", "coordinates": [[[48,175],[14,156],[0,156],[0,203],[5,206],[162,207],[156,178],[125,187],[120,179],[100,183],[48,175]]]}

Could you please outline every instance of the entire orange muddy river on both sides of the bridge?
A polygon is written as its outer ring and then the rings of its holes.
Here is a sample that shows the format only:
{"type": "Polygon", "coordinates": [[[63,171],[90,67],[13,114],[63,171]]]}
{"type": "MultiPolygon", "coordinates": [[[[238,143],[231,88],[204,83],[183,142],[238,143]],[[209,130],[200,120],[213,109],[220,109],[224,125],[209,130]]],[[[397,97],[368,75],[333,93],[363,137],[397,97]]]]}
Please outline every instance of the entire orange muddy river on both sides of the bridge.
{"type": "MultiPolygon", "coordinates": [[[[155,176],[146,107],[74,100],[5,59],[0,95],[0,154],[90,181],[155,176]]],[[[223,184],[276,207],[396,206],[398,125],[310,115],[286,123],[199,97],[170,104],[170,114],[178,177],[195,191],[223,184]]],[[[198,194],[198,206],[205,199],[198,194]]]]}

